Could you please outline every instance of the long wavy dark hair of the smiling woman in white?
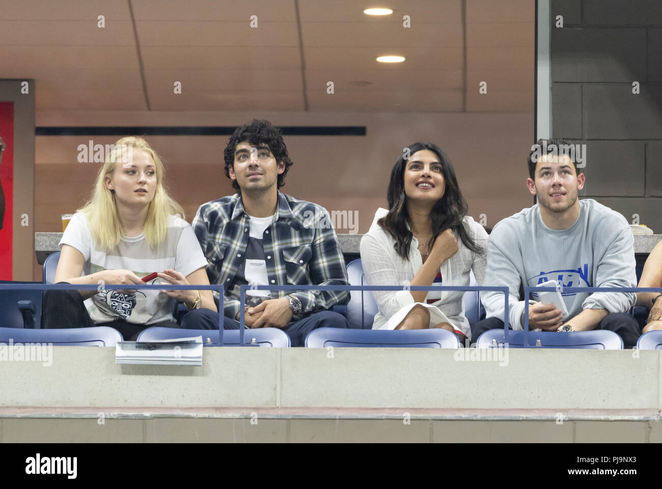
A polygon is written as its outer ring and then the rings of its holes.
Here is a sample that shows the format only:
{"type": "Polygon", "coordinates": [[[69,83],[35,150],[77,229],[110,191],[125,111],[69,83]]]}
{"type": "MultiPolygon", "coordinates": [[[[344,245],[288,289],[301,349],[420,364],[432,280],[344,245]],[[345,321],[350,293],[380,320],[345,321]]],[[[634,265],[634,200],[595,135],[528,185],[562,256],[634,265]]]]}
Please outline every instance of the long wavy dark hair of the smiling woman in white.
{"type": "MultiPolygon", "coordinates": [[[[464,245],[471,249],[471,251],[481,252],[481,248],[469,236],[465,226],[462,224],[462,219],[467,215],[467,201],[462,197],[459,185],[457,185],[455,170],[446,154],[438,146],[430,143],[417,142],[410,144],[407,148],[410,156],[420,150],[430,150],[439,157],[439,161],[442,164],[442,175],[444,175],[446,190],[444,191],[444,197],[439,199],[434,204],[434,207],[432,207],[432,211],[430,211],[430,220],[432,220],[430,249],[432,249],[439,234],[446,229],[450,229],[453,232],[457,232],[464,245]]],[[[407,227],[407,224],[410,223],[410,218],[407,212],[407,198],[404,194],[404,169],[408,161],[405,159],[406,153],[405,148],[400,154],[398,161],[393,165],[391,181],[389,181],[389,189],[387,191],[389,213],[379,219],[377,224],[385,232],[393,236],[395,240],[393,248],[398,255],[404,259],[409,259],[409,247],[414,235],[407,227]]]]}

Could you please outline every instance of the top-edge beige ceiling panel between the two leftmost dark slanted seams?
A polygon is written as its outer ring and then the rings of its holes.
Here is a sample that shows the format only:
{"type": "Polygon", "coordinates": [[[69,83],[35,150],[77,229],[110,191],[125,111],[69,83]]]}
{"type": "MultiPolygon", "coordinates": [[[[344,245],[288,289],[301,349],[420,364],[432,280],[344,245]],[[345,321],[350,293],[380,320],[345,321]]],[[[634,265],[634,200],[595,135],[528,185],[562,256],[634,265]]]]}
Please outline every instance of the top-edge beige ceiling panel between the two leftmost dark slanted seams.
{"type": "MultiPolygon", "coordinates": [[[[295,22],[294,0],[131,0],[136,21],[260,21],[295,22]]],[[[323,2],[326,9],[329,4],[323,2]]]]}

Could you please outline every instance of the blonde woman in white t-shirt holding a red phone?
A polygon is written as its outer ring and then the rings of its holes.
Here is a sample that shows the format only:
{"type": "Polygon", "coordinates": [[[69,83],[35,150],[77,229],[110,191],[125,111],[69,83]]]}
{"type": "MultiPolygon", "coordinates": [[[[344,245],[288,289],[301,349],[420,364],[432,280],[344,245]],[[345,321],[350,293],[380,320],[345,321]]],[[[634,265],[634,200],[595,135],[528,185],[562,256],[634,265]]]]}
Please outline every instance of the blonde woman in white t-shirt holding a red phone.
{"type": "Polygon", "coordinates": [[[160,157],[142,138],[118,140],[99,171],[93,195],[71,218],[62,240],[56,283],[99,290],[49,290],[44,328],[111,326],[134,339],[148,326],[179,328],[175,299],[191,310],[181,328],[218,328],[211,290],[107,290],[104,285],[209,285],[207,259],[184,212],[166,193],[160,157]],[[181,216],[181,217],[180,217],[181,216]],[[151,283],[151,281],[150,281],[151,283]]]}

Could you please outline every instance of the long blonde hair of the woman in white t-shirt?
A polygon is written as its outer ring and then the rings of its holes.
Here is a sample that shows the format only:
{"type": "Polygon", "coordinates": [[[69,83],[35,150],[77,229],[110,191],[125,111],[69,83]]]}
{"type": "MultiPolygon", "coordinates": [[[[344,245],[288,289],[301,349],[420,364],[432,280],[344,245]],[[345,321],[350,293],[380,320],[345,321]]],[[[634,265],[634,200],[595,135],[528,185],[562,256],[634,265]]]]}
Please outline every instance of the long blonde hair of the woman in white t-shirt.
{"type": "Polygon", "coordinates": [[[99,170],[94,191],[83,208],[76,212],[87,215],[89,230],[97,242],[105,251],[110,251],[118,245],[122,238],[122,225],[120,224],[115,204],[115,192],[106,188],[106,177],[115,172],[116,165],[126,162],[126,155],[132,154],[133,150],[143,150],[152,156],[156,167],[156,190],[154,199],[150,202],[145,220],[145,239],[148,244],[156,248],[166,239],[167,220],[171,214],[179,214],[184,218],[184,210],[177,202],[167,195],[163,185],[164,165],[161,158],[152,147],[142,138],[128,136],[121,138],[111,148],[111,154],[107,155],[106,162],[99,170]]]}

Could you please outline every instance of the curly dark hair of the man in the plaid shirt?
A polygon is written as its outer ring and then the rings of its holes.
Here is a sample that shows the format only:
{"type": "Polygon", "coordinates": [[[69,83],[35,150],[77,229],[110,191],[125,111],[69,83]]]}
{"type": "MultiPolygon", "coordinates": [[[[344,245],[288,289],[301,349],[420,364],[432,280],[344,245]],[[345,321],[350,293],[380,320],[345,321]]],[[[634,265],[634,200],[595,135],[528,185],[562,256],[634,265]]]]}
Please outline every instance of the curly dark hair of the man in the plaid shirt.
{"type": "MultiPolygon", "coordinates": [[[[237,145],[244,141],[256,148],[260,144],[266,144],[269,146],[269,150],[276,161],[285,163],[285,171],[278,175],[277,181],[278,188],[283,187],[285,185],[285,175],[287,175],[289,167],[292,166],[292,161],[287,155],[287,146],[285,146],[285,141],[283,141],[283,133],[268,120],[253,119],[253,122],[250,124],[244,124],[234,130],[228,141],[228,146],[226,146],[223,152],[225,176],[230,178],[228,168],[234,165],[234,152],[237,145]]],[[[236,180],[232,181],[232,187],[236,190],[241,190],[236,180]]]]}

